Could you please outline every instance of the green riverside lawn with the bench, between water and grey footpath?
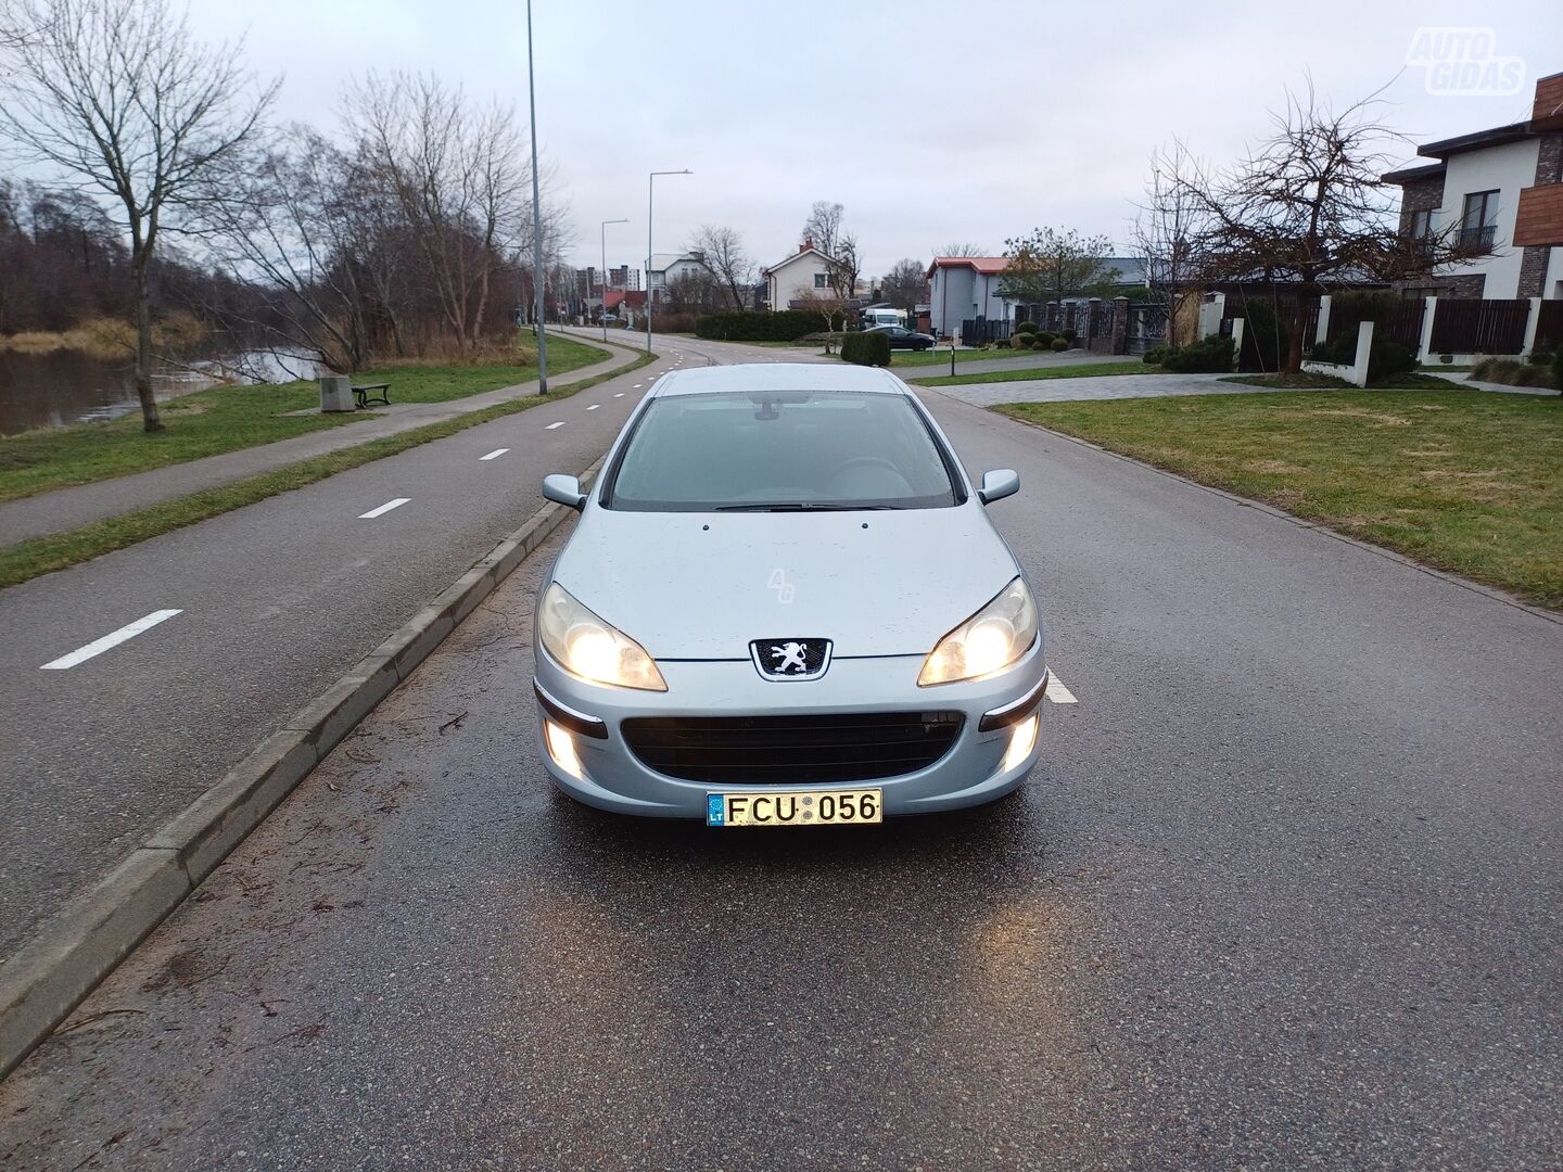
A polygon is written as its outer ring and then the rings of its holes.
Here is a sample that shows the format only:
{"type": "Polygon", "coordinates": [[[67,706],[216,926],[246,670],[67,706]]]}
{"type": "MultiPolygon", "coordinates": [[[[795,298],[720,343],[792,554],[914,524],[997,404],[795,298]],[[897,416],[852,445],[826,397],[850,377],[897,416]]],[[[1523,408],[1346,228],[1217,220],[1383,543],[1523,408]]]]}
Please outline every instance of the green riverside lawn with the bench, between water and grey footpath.
{"type": "MultiPolygon", "coordinates": [[[[549,334],[550,373],[591,366],[606,356],[608,352],[600,347],[549,334]]],[[[536,377],[535,364],[384,366],[363,370],[353,375],[353,381],[391,383],[391,400],[395,403],[442,403],[536,377]]],[[[163,403],[159,411],[166,428],[150,436],[142,431],[139,414],[108,423],[9,436],[0,439],[0,500],[183,464],[374,417],[288,414],[319,403],[316,383],[217,386],[163,403]]]]}

